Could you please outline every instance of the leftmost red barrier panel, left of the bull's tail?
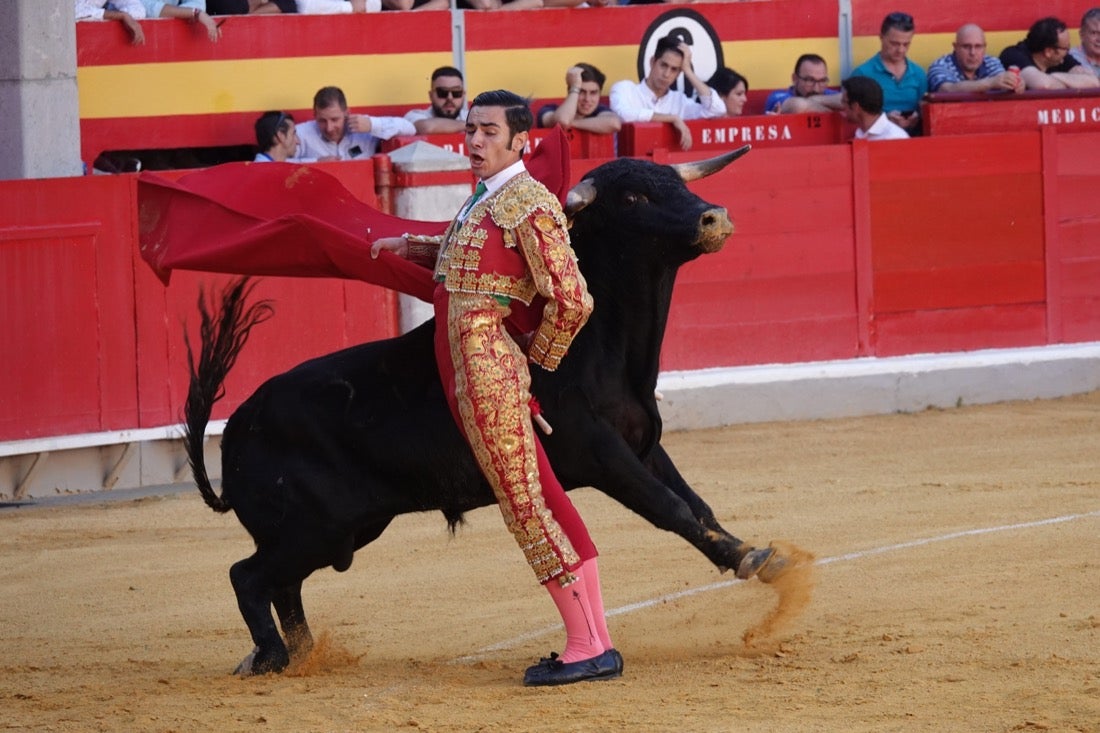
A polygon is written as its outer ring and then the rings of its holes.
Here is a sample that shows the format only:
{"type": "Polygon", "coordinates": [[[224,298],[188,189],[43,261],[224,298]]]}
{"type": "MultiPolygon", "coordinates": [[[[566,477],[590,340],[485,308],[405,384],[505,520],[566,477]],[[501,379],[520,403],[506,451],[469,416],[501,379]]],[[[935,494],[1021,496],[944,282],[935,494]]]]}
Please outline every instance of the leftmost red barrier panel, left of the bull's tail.
{"type": "Polygon", "coordinates": [[[0,182],[0,440],[132,427],[129,178],[0,182]]]}

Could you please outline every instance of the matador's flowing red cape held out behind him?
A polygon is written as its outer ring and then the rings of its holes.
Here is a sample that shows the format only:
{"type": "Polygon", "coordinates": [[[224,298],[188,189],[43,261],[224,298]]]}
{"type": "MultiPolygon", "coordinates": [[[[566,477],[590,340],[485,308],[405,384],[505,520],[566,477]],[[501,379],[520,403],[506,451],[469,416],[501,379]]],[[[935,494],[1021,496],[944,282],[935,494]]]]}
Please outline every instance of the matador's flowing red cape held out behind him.
{"type": "MultiPolygon", "coordinates": [[[[527,168],[564,201],[569,141],[547,135],[527,168]]],[[[142,259],[167,284],[173,270],[346,277],[431,302],[431,271],[371,243],[404,232],[439,234],[447,222],[402,219],[364,204],[307,165],[228,163],[168,180],[138,178],[142,259]]],[[[441,212],[449,215],[452,212],[441,212]]]]}

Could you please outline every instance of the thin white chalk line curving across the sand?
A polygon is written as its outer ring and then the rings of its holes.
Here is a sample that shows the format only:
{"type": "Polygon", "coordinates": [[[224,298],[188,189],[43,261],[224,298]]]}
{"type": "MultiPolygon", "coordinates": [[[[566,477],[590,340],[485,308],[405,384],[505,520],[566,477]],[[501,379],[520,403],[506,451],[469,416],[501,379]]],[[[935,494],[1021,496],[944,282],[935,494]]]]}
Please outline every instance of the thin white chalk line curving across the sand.
{"type": "MultiPolygon", "coordinates": [[[[835,555],[833,557],[824,557],[814,562],[814,565],[833,565],[834,562],[846,562],[849,560],[861,560],[866,557],[871,557],[875,555],[883,555],[886,553],[897,553],[899,550],[912,549],[914,547],[923,547],[924,545],[933,545],[935,543],[946,543],[953,539],[960,539],[963,537],[976,537],[979,535],[991,535],[999,532],[1012,532],[1015,529],[1030,529],[1033,527],[1043,527],[1052,524],[1063,524],[1066,522],[1076,522],[1078,519],[1089,519],[1092,517],[1100,517],[1100,510],[1094,512],[1082,512],[1080,514],[1066,514],[1064,516],[1055,516],[1047,519],[1035,519],[1034,522],[1019,522],[1016,524],[1002,524],[997,527],[979,527],[977,529],[963,529],[961,532],[952,532],[946,535],[938,535],[936,537],[924,537],[921,539],[913,539],[908,543],[898,543],[895,545],[883,545],[882,547],[872,547],[866,550],[859,550],[856,553],[846,553],[844,555],[835,555]]],[[[698,595],[700,593],[708,593],[711,591],[719,590],[722,588],[729,588],[730,586],[736,586],[738,583],[745,582],[737,578],[730,580],[722,580],[716,583],[708,583],[706,586],[700,586],[697,588],[689,588],[688,590],[676,591],[675,593],[668,593],[666,595],[660,595],[658,598],[648,599],[645,601],[638,601],[637,603],[628,603],[627,605],[620,605],[617,609],[609,609],[606,611],[606,615],[610,616],[622,616],[627,613],[634,613],[635,611],[642,611],[645,609],[650,609],[654,605],[661,605],[670,601],[676,601],[682,598],[689,598],[691,595],[698,595]]],[[[469,664],[473,661],[480,661],[491,655],[494,652],[501,652],[503,649],[510,649],[515,646],[530,642],[547,634],[552,634],[553,632],[560,631],[561,624],[554,624],[552,626],[546,626],[543,628],[538,628],[535,631],[527,632],[526,634],[520,634],[519,636],[514,636],[504,642],[497,642],[496,644],[490,644],[488,646],[483,646],[477,649],[474,654],[466,655],[453,659],[454,664],[469,664]]]]}

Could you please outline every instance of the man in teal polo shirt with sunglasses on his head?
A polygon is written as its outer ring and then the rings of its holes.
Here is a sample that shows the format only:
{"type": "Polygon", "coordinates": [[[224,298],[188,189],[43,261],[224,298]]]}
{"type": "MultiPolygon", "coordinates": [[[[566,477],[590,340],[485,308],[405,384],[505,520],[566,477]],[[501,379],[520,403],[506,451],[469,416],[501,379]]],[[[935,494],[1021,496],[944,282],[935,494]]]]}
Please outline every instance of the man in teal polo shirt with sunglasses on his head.
{"type": "Polygon", "coordinates": [[[924,69],[909,58],[915,25],[909,13],[882,19],[879,53],[857,66],[853,76],[869,76],[882,89],[882,105],[890,121],[910,134],[921,130],[921,97],[928,90],[924,69]]]}

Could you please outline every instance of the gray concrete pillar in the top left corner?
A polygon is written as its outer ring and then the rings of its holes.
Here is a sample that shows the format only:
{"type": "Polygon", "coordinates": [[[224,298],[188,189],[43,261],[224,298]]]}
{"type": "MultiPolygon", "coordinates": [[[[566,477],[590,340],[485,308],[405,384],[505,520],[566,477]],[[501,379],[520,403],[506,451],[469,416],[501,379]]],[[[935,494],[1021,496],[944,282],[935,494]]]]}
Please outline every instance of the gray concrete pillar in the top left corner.
{"type": "Polygon", "coordinates": [[[0,179],[82,173],[73,0],[4,0],[0,179]]]}

